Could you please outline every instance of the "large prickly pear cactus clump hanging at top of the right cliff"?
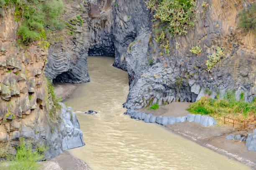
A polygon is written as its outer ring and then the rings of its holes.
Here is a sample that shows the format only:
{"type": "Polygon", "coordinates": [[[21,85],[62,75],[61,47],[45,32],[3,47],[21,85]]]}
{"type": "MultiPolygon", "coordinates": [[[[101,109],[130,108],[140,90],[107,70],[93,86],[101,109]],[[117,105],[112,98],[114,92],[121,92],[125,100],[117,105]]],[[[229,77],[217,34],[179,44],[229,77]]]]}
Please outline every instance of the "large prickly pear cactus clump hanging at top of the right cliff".
{"type": "MultiPolygon", "coordinates": [[[[164,53],[170,55],[169,37],[186,35],[194,28],[196,2],[194,0],[147,0],[146,5],[153,13],[153,31],[156,42],[164,53]]],[[[161,55],[163,53],[161,52],[161,55]]]]}

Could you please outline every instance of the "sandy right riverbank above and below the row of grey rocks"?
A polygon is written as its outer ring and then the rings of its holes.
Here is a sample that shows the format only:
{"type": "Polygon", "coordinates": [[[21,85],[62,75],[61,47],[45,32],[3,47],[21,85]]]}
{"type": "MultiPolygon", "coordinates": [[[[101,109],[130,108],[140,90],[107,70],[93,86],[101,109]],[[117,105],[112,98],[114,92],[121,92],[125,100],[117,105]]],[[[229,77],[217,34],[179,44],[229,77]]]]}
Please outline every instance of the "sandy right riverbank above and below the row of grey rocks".
{"type": "MultiPolygon", "coordinates": [[[[169,105],[159,106],[157,110],[142,109],[141,111],[147,114],[151,113],[154,116],[186,116],[190,114],[185,110],[189,104],[188,102],[172,102],[169,105]]],[[[232,125],[203,126],[200,123],[185,121],[172,125],[168,124],[164,128],[256,169],[256,151],[248,151],[248,147],[246,147],[244,141],[228,140],[225,138],[229,134],[252,133],[253,128],[256,127],[243,130],[239,127],[233,128],[232,125]]]]}

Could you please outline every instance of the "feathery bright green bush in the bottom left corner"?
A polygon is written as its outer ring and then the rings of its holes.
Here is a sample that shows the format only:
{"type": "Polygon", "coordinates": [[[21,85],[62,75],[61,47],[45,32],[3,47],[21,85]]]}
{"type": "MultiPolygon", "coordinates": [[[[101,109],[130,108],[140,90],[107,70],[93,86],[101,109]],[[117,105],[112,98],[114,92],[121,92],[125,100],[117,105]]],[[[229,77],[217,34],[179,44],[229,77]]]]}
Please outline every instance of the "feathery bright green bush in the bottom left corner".
{"type": "Polygon", "coordinates": [[[6,170],[38,170],[42,164],[38,161],[44,158],[44,153],[48,149],[44,144],[37,145],[33,150],[30,143],[25,143],[24,139],[20,139],[20,145],[16,147],[16,155],[5,153],[3,157],[8,162],[1,163],[0,168],[6,170]]]}

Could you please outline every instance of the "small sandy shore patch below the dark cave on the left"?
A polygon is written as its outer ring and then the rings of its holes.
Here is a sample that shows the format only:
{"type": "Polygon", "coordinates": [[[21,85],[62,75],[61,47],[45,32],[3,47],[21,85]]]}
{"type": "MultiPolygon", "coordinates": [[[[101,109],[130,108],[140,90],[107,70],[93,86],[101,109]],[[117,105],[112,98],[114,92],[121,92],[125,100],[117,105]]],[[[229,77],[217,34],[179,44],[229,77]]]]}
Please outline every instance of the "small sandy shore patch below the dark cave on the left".
{"type": "Polygon", "coordinates": [[[65,82],[55,82],[54,83],[54,93],[56,97],[61,97],[62,101],[66,100],[73,91],[77,88],[77,85],[74,83],[65,83],[65,82]]]}

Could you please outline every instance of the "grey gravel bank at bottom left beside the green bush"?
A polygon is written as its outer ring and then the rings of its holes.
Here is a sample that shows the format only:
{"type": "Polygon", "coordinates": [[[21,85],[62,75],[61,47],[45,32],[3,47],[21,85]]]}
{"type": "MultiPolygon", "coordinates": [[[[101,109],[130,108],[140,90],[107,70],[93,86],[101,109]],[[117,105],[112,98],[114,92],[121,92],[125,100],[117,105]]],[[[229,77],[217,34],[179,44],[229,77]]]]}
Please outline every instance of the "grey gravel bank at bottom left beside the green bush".
{"type": "Polygon", "coordinates": [[[91,170],[82,160],[73,157],[67,151],[52,160],[44,162],[44,170],[91,170]]]}

